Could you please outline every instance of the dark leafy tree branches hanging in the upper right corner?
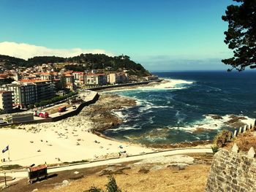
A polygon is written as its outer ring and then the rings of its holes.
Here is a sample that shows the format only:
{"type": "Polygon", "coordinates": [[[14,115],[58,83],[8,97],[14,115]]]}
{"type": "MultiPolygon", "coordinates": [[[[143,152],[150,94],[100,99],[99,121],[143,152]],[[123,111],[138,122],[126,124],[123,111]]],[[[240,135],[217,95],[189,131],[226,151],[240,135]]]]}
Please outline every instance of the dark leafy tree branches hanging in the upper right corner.
{"type": "Polygon", "coordinates": [[[233,0],[222,20],[228,22],[225,43],[233,50],[233,57],[223,59],[230,70],[243,71],[246,66],[256,68],[256,0],[233,0]]]}

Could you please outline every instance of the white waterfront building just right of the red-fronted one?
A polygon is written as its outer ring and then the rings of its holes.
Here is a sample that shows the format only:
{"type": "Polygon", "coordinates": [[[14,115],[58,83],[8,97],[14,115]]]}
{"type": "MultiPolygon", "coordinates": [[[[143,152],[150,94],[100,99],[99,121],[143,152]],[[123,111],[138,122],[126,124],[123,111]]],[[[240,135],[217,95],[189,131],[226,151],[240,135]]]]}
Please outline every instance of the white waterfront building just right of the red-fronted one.
{"type": "Polygon", "coordinates": [[[107,85],[108,76],[105,74],[85,74],[84,82],[86,85],[107,85]]]}

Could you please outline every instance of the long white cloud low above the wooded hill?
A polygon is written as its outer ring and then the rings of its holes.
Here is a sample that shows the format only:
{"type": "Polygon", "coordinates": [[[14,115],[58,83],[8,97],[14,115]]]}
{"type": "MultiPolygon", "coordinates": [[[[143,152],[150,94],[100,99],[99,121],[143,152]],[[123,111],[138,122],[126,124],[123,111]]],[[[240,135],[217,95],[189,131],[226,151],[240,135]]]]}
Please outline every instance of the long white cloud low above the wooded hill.
{"type": "Polygon", "coordinates": [[[10,55],[17,58],[32,58],[34,56],[59,56],[72,57],[81,53],[103,53],[113,56],[113,53],[108,53],[105,50],[83,50],[80,48],[73,49],[50,49],[37,45],[29,45],[26,43],[16,42],[0,42],[0,55],[10,55]]]}

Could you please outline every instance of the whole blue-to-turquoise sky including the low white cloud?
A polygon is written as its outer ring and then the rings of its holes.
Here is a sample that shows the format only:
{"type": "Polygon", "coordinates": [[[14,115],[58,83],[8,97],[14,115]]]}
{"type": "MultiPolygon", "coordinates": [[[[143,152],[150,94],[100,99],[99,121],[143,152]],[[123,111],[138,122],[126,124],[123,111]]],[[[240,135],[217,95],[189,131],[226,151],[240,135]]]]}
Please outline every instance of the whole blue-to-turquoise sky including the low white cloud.
{"type": "Polygon", "coordinates": [[[232,0],[0,0],[0,54],[129,55],[150,71],[226,70],[232,0]]]}

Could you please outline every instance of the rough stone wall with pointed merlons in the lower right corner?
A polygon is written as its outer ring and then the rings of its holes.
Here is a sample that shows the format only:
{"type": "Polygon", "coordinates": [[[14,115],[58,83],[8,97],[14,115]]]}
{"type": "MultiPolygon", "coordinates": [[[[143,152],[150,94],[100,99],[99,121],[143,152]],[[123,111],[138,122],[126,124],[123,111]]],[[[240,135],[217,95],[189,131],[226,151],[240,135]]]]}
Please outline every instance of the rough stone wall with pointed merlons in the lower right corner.
{"type": "Polygon", "coordinates": [[[256,159],[253,147],[248,153],[220,150],[214,155],[206,191],[256,191],[256,159]]]}

